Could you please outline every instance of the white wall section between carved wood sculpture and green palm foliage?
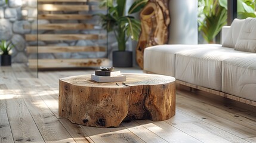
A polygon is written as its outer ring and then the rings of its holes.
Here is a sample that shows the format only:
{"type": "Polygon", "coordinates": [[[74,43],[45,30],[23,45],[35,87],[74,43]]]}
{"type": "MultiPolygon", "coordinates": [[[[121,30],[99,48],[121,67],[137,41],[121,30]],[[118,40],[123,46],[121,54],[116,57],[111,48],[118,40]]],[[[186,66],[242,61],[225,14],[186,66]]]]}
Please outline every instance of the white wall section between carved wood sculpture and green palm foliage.
{"type": "Polygon", "coordinates": [[[171,44],[198,44],[198,0],[169,1],[171,44]]]}

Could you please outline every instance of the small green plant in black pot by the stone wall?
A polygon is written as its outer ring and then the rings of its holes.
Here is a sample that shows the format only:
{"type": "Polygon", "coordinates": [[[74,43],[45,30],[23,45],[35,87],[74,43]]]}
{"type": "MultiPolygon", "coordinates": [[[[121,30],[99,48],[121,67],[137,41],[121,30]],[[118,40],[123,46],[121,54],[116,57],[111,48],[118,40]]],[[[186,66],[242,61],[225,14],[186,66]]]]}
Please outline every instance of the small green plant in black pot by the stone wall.
{"type": "Polygon", "coordinates": [[[10,51],[14,47],[11,42],[6,42],[5,40],[1,41],[1,66],[11,66],[11,55],[10,51]]]}

